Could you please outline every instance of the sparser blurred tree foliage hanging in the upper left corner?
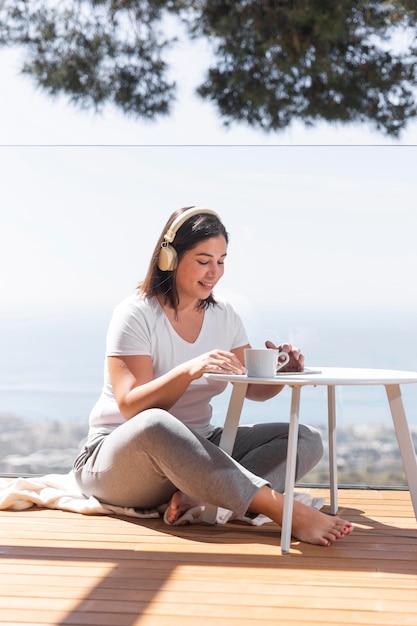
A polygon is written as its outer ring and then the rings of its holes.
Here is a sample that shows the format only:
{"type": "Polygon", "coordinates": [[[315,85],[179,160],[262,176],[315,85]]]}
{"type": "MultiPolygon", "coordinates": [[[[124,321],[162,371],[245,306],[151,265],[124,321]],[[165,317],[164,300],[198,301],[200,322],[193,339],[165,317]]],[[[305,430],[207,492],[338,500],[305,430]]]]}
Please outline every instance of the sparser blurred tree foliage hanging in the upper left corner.
{"type": "Polygon", "coordinates": [[[22,71],[51,95],[84,108],[113,102],[153,119],[169,112],[174,83],[166,79],[160,3],[136,0],[6,1],[0,44],[20,45],[22,71]]]}

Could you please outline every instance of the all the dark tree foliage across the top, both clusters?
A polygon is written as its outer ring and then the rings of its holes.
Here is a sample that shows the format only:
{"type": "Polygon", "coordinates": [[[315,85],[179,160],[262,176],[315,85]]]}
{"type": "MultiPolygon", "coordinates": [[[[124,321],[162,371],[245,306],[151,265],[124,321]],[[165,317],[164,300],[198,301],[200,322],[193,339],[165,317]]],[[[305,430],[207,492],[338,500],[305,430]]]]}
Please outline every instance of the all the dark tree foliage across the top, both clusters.
{"type": "Polygon", "coordinates": [[[0,45],[21,46],[23,72],[84,107],[113,102],[152,119],[175,84],[164,55],[174,14],[212,42],[198,87],[226,125],[277,131],[299,119],[367,123],[398,136],[415,118],[415,0],[3,0],[0,45]],[[396,51],[393,37],[409,43],[396,51]]]}

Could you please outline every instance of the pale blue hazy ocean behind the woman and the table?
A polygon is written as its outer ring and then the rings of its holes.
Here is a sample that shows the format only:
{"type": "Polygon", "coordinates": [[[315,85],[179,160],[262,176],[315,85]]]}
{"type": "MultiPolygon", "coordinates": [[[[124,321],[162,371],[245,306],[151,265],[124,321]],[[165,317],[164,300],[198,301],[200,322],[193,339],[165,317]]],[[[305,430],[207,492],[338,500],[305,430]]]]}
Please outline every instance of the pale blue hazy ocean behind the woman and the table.
{"type": "MultiPolygon", "coordinates": [[[[299,345],[306,366],[345,366],[417,371],[416,313],[410,310],[281,310],[243,315],[254,347],[265,339],[299,345]]],[[[84,421],[101,385],[104,316],[44,316],[0,321],[0,416],[31,422],[84,421]]],[[[417,385],[403,385],[410,426],[417,426],[417,385]]],[[[216,424],[227,408],[230,385],[213,401],[216,424]]],[[[339,387],[338,425],[391,424],[385,390],[339,387]]],[[[290,390],[265,403],[246,402],[242,422],[286,420],[290,390]]],[[[321,426],[327,419],[326,390],[307,387],[300,419],[321,426]]]]}

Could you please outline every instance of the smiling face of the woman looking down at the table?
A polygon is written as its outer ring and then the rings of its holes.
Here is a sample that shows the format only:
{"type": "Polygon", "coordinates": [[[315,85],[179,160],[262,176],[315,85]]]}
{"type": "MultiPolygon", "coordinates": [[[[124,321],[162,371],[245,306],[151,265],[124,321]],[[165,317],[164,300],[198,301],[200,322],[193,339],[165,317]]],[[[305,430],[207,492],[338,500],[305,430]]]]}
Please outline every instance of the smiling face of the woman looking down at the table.
{"type": "Polygon", "coordinates": [[[209,297],[224,274],[226,254],[227,243],[222,235],[201,241],[184,253],[176,274],[180,304],[209,297]]]}

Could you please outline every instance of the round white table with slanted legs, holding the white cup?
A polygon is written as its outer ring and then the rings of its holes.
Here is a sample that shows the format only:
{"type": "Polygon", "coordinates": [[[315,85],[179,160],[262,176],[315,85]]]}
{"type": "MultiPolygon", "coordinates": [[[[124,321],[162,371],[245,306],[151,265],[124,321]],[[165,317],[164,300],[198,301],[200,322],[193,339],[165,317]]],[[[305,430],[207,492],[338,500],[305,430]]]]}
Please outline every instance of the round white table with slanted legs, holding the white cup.
{"type": "MultiPolygon", "coordinates": [[[[254,378],[245,375],[237,376],[229,374],[205,374],[205,376],[217,380],[226,380],[233,385],[223,434],[220,440],[220,447],[228,454],[231,454],[233,451],[236,431],[239,425],[248,385],[288,385],[292,388],[284,512],[281,532],[281,552],[283,554],[288,554],[291,542],[300,394],[302,387],[307,385],[325,385],[327,387],[331,513],[335,515],[338,510],[335,387],[337,385],[383,385],[386,389],[414,513],[417,519],[417,458],[400,390],[401,384],[417,383],[417,372],[318,366],[306,368],[305,372],[302,373],[278,373],[274,378],[254,378]]],[[[214,523],[216,512],[216,507],[206,505],[203,517],[204,521],[206,523],[214,523]]]]}

